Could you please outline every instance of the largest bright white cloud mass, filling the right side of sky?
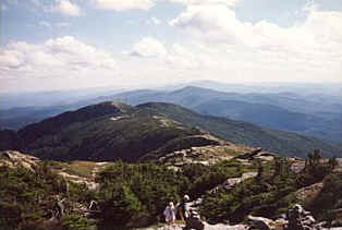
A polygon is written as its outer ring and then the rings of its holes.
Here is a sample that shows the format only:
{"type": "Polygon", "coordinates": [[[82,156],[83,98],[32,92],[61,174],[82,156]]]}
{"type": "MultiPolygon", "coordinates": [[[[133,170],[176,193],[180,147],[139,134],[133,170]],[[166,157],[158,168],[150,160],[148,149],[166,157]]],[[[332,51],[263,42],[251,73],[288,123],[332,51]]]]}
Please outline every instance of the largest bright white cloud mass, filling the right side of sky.
{"type": "Polygon", "coordinates": [[[184,37],[197,44],[190,50],[222,77],[230,72],[231,80],[341,81],[342,13],[304,10],[304,22],[280,27],[267,21],[241,22],[222,4],[190,5],[169,24],[186,33],[184,37]]]}

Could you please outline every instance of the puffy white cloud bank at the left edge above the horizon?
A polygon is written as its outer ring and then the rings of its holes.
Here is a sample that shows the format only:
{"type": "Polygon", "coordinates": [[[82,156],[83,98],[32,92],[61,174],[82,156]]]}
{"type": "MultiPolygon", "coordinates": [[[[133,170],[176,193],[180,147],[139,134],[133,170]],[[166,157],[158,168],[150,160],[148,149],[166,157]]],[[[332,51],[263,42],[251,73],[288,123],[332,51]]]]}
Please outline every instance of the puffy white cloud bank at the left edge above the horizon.
{"type": "Polygon", "coordinates": [[[66,77],[117,70],[110,53],[74,37],[49,39],[42,45],[16,41],[0,50],[2,77],[66,77]]]}

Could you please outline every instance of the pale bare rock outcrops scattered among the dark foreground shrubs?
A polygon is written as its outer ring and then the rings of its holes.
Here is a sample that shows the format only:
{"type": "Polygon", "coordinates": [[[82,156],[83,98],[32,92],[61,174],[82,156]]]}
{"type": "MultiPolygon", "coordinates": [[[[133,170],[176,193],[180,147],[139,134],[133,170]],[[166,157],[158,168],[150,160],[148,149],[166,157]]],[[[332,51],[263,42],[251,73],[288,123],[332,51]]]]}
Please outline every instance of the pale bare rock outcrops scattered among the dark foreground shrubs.
{"type": "MultiPolygon", "coordinates": [[[[203,195],[197,196],[197,198],[192,202],[192,208],[193,210],[196,210],[196,213],[197,211],[200,213],[200,209],[203,208],[203,206],[206,205],[206,199],[208,198],[208,196],[210,196],[210,194],[211,196],[215,196],[215,194],[220,193],[220,190],[222,189],[227,191],[227,193],[230,193],[230,191],[233,191],[237,186],[237,184],[245,183],[245,181],[251,182],[251,180],[252,181],[256,180],[260,171],[257,167],[254,166],[256,162],[255,160],[261,161],[264,164],[264,167],[267,168],[267,165],[273,164],[276,158],[277,158],[276,154],[267,153],[259,148],[249,148],[249,147],[245,147],[241,145],[234,145],[232,143],[224,143],[224,145],[191,147],[191,148],[186,148],[182,150],[175,150],[167,155],[162,155],[162,157],[155,159],[155,164],[167,166],[170,170],[175,170],[180,172],[184,172],[184,169],[187,166],[198,165],[198,164],[203,165],[204,167],[210,167],[210,166],[218,166],[217,164],[222,164],[222,162],[228,164],[228,165],[230,162],[235,162],[235,164],[239,162],[239,165],[241,165],[242,167],[247,167],[244,170],[245,172],[241,173],[241,177],[228,177],[228,179],[222,181],[220,184],[217,184],[216,186],[206,191],[206,194],[204,193],[203,195]]],[[[302,159],[289,158],[289,161],[291,162],[292,166],[303,165],[302,159]]],[[[321,161],[323,162],[326,160],[321,160],[321,161]]],[[[340,165],[341,160],[338,159],[338,162],[339,165],[335,166],[334,173],[339,173],[340,170],[342,169],[342,165],[340,165]]],[[[101,186],[101,182],[98,181],[97,179],[97,177],[99,175],[98,173],[101,173],[103,170],[106,171],[108,168],[115,166],[114,162],[94,162],[94,161],[93,162],[91,161],[70,161],[70,162],[46,161],[45,162],[36,157],[24,155],[19,152],[8,150],[8,152],[0,153],[0,168],[9,167],[15,170],[17,168],[23,167],[27,169],[28,171],[32,171],[33,173],[37,173],[37,168],[41,164],[47,164],[51,172],[56,173],[57,177],[66,181],[66,184],[69,183],[80,184],[80,185],[84,184],[89,191],[99,191],[99,187],[101,186]]],[[[292,167],[292,170],[295,170],[294,172],[298,173],[297,166],[292,167]]],[[[304,169],[302,168],[302,171],[304,169]]],[[[297,202],[304,205],[306,204],[306,206],[309,207],[308,204],[313,203],[315,198],[318,195],[320,195],[323,189],[325,189],[325,182],[321,181],[318,183],[313,183],[308,186],[303,186],[302,189],[295,191],[294,194],[297,197],[296,198],[297,202]]],[[[66,197],[64,199],[59,198],[59,201],[65,201],[65,199],[68,201],[66,197]]],[[[87,218],[89,217],[89,215],[91,215],[91,208],[94,208],[91,206],[96,204],[94,202],[95,199],[88,201],[85,204],[82,204],[78,202],[68,201],[69,206],[73,206],[73,209],[65,210],[65,213],[74,211],[75,214],[81,214],[81,216],[84,216],[85,218],[87,218]]],[[[319,226],[327,225],[323,220],[316,220],[315,217],[313,217],[313,214],[304,210],[302,206],[300,207],[300,209],[303,213],[301,215],[304,215],[302,217],[303,221],[301,222],[301,225],[304,225],[304,223],[307,225],[308,226],[307,229],[325,229],[323,227],[319,227],[319,226]]],[[[334,211],[338,211],[338,209],[334,211]]],[[[335,216],[338,217],[338,215],[339,214],[337,213],[335,216]]],[[[54,219],[52,220],[56,222],[58,218],[60,217],[54,217],[54,219]]],[[[204,217],[204,219],[206,219],[206,217],[204,217]]],[[[240,230],[240,229],[251,229],[251,228],[252,229],[253,228],[256,228],[256,229],[295,229],[294,227],[286,227],[286,226],[300,225],[300,223],[291,222],[294,220],[290,219],[289,211],[284,211],[283,215],[279,215],[277,218],[270,218],[270,217],[265,218],[265,216],[255,217],[249,214],[249,216],[246,216],[246,221],[243,221],[243,223],[240,223],[240,225],[227,223],[228,221],[227,222],[223,221],[224,223],[215,225],[215,223],[208,223],[204,219],[198,219],[198,221],[203,223],[205,230],[210,230],[210,229],[212,230],[220,230],[220,229],[240,230]]],[[[49,221],[52,221],[52,220],[49,220],[49,221]]],[[[339,221],[338,219],[332,220],[332,223],[337,226],[339,225],[338,221],[339,221]]],[[[48,225],[48,223],[46,222],[45,225],[48,225]]],[[[152,229],[178,230],[178,229],[183,229],[184,227],[185,227],[185,223],[183,222],[183,223],[178,223],[174,227],[158,225],[155,227],[148,227],[148,228],[143,228],[143,229],[145,230],[148,230],[148,229],[150,230],[152,229]]],[[[102,229],[102,228],[99,227],[99,229],[102,229]]],[[[331,229],[339,229],[339,228],[335,227],[331,229]]]]}

